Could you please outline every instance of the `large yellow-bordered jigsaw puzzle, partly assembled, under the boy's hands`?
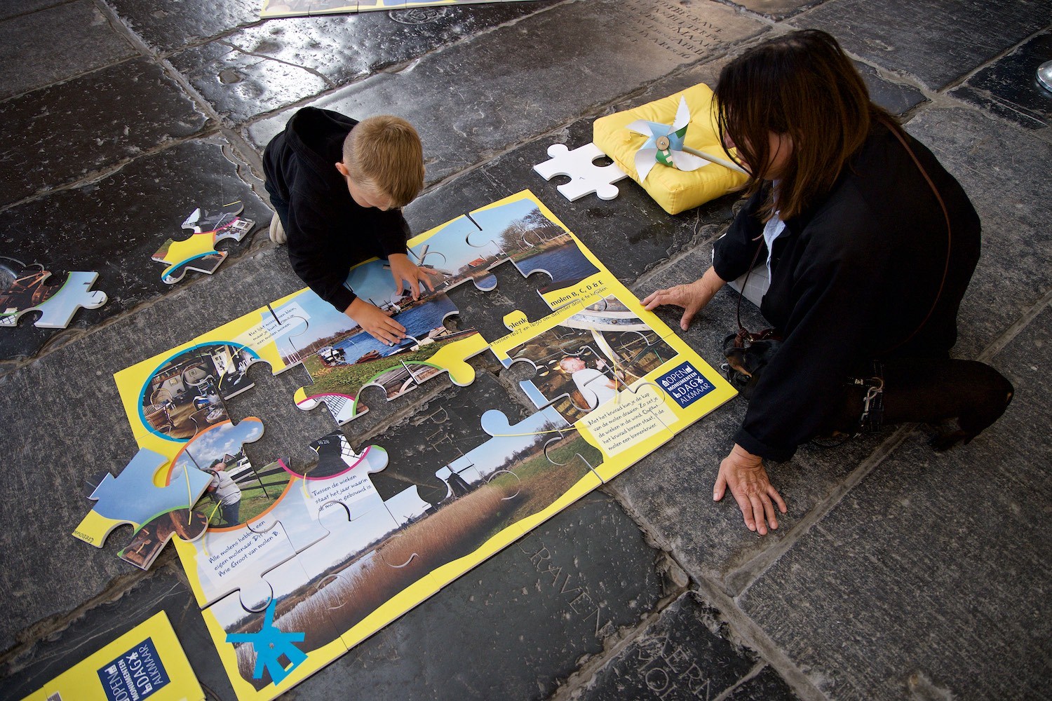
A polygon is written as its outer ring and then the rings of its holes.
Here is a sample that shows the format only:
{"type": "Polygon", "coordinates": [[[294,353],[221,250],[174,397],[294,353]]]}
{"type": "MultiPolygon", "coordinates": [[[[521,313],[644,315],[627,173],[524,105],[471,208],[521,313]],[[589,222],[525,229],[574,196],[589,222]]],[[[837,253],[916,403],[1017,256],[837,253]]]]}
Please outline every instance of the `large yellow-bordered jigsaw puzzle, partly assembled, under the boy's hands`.
{"type": "Polygon", "coordinates": [[[142,449],[236,473],[236,518],[203,500],[204,536],[175,543],[240,699],[274,698],[317,672],[734,394],[529,191],[409,249],[434,287],[419,300],[393,289],[381,261],[348,277],[408,329],[396,348],[301,290],[116,374],[142,449]],[[501,338],[470,318],[450,328],[460,310],[448,290],[491,290],[509,262],[546,276],[550,313],[509,309],[501,338]],[[507,372],[526,369],[532,413],[477,376],[467,360],[487,350],[507,372]],[[325,404],[337,422],[364,411],[368,386],[390,398],[448,373],[454,387],[369,445],[340,431],[304,437],[316,465],[257,470],[239,451],[262,427],[230,425],[224,404],[251,387],[257,362],[274,373],[304,365],[313,384],[295,403],[325,404]]]}

